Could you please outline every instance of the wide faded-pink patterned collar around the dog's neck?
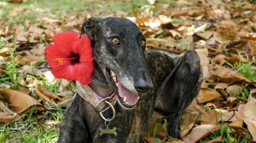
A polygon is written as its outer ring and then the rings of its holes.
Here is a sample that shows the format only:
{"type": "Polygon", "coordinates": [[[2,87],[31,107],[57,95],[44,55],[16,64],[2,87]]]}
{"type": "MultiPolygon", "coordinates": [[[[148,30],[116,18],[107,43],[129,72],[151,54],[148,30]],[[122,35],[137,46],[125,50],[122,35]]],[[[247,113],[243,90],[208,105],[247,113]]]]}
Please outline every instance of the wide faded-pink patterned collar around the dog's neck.
{"type": "MultiPolygon", "coordinates": [[[[81,96],[81,98],[83,98],[85,101],[92,104],[94,107],[96,107],[96,105],[99,103],[99,101],[101,101],[103,99],[96,92],[94,92],[88,84],[83,85],[80,82],[76,81],[76,90],[77,90],[77,93],[81,96]]],[[[109,102],[114,106],[116,104],[116,100],[117,100],[116,94],[112,93],[109,97],[111,97],[109,99],[109,102]]],[[[98,105],[96,110],[98,112],[101,112],[107,107],[108,107],[108,104],[106,104],[105,102],[101,102],[98,105]]]]}

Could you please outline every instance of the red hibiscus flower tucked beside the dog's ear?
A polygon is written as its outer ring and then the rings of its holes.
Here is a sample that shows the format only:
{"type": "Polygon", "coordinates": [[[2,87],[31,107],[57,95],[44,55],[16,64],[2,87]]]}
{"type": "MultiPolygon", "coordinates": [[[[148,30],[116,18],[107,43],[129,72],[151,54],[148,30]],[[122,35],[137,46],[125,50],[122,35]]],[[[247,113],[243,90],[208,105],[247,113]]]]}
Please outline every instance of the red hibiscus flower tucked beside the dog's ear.
{"type": "Polygon", "coordinates": [[[52,40],[54,45],[48,45],[44,51],[54,77],[81,84],[92,82],[93,48],[87,35],[83,34],[78,39],[78,33],[70,30],[52,36],[52,40]]]}

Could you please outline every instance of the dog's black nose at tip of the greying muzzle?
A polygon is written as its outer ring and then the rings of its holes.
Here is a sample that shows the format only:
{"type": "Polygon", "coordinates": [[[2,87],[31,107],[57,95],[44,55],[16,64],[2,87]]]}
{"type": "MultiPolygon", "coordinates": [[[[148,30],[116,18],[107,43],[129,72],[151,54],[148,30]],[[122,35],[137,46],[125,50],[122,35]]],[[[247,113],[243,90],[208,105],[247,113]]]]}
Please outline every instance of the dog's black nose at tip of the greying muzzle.
{"type": "Polygon", "coordinates": [[[147,72],[142,70],[137,71],[134,87],[139,93],[145,93],[153,87],[151,78],[147,72]]]}

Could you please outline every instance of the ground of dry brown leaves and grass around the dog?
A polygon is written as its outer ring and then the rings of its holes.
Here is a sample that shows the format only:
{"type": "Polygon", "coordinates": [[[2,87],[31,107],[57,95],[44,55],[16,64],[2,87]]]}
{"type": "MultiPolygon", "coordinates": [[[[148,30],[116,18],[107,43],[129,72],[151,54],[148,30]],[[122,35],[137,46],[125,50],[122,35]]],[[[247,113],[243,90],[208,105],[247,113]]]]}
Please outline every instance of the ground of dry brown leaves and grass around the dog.
{"type": "Polygon", "coordinates": [[[147,38],[148,49],[173,57],[195,49],[201,59],[204,82],[181,117],[183,141],[168,135],[172,117],[154,112],[142,142],[256,141],[254,1],[4,0],[0,2],[0,143],[57,141],[60,119],[76,85],[52,76],[44,48],[56,33],[79,32],[82,22],[92,16],[128,18],[147,38]]]}

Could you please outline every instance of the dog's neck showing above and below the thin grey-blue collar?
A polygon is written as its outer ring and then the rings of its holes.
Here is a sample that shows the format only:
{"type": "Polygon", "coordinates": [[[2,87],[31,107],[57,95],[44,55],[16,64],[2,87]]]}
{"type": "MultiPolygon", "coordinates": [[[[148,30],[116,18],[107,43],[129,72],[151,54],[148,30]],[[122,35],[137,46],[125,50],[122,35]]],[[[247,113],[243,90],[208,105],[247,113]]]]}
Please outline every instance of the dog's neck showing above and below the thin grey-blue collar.
{"type": "MultiPolygon", "coordinates": [[[[99,81],[107,82],[104,73],[102,72],[102,69],[96,62],[94,62],[94,71],[92,76],[99,81]]],[[[102,98],[106,98],[114,92],[112,88],[99,87],[93,83],[90,83],[89,86],[92,88],[94,92],[96,92],[102,98]]]]}

